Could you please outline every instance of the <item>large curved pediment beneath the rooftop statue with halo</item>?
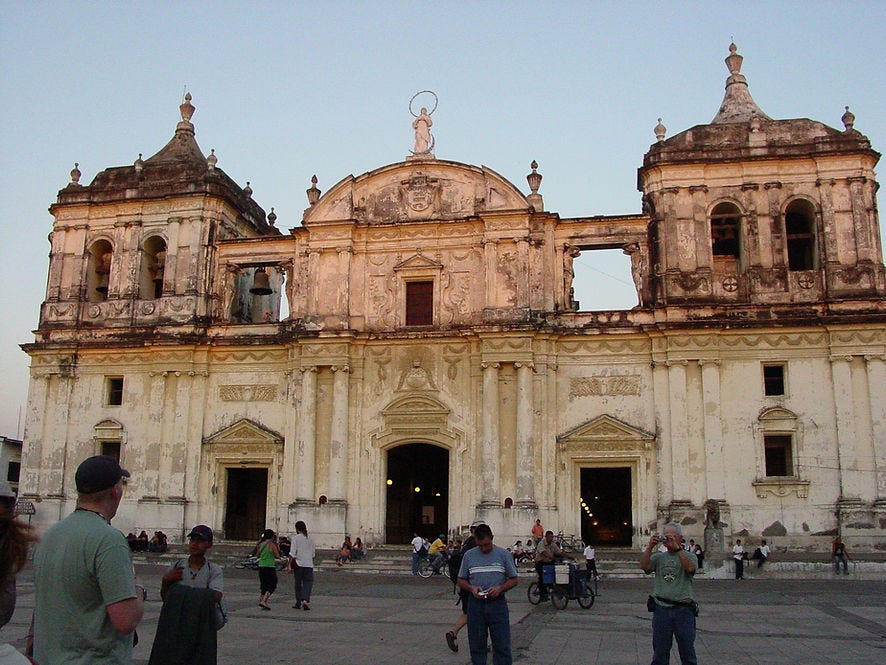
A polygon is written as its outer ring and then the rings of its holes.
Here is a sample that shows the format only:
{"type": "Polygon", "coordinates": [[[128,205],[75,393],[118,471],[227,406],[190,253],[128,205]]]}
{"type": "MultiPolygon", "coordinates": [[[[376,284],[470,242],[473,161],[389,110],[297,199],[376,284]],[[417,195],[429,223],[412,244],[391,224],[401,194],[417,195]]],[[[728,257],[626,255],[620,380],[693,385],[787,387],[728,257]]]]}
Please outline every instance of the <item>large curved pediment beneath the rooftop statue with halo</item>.
{"type": "Polygon", "coordinates": [[[449,221],[529,210],[526,196],[492,169],[431,159],[344,178],[305,211],[304,224],[449,221]]]}

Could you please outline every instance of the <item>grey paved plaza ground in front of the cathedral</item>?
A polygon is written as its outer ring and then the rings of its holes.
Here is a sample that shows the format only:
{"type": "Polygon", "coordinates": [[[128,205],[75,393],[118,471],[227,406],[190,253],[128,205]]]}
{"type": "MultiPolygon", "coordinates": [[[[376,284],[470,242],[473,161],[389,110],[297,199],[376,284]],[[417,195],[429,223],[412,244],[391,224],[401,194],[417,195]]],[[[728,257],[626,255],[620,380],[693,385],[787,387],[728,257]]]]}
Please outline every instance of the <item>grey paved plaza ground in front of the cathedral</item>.
{"type": "MultiPolygon", "coordinates": [[[[152,588],[135,665],[147,663],[150,654],[162,570],[137,567],[142,582],[152,588]]],[[[549,604],[529,605],[529,581],[521,579],[510,594],[515,663],[645,665],[651,659],[648,580],[604,580],[591,609],[571,601],[560,611],[549,604]]],[[[232,620],[219,634],[220,665],[470,662],[466,631],[460,634],[458,654],[446,648],[443,635],[459,610],[445,579],[324,569],[316,575],[310,612],[290,608],[292,581],[285,573],[271,612],[257,606],[254,571],[226,568],[225,582],[232,620]]],[[[696,642],[702,665],[886,661],[886,579],[707,579],[696,583],[696,591],[702,605],[696,642]]],[[[33,603],[33,576],[25,570],[16,614],[0,631],[3,641],[23,643],[33,603]]],[[[676,648],[672,662],[679,663],[676,648]]]]}

